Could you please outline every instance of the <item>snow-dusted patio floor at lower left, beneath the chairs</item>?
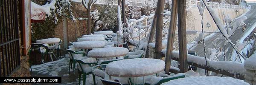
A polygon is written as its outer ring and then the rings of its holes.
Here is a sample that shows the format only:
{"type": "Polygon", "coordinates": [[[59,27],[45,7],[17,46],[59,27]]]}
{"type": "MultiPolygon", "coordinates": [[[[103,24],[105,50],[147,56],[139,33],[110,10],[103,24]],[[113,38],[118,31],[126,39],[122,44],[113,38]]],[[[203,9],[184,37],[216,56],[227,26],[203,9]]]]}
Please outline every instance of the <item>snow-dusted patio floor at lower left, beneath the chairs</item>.
{"type": "MultiPolygon", "coordinates": [[[[70,74],[68,74],[68,68],[69,68],[69,57],[68,57],[68,54],[66,54],[64,58],[53,61],[53,62],[46,62],[41,65],[32,65],[31,76],[32,77],[61,77],[61,85],[78,85],[78,81],[79,81],[78,69],[76,69],[75,71],[70,69],[70,74]]],[[[83,79],[81,77],[81,85],[83,84],[82,80],[83,79]]],[[[99,77],[96,77],[96,82],[99,82],[99,77]]],[[[49,84],[42,84],[42,85],[49,85],[49,84]]],[[[86,85],[93,85],[92,74],[87,75],[86,85]]],[[[98,85],[101,85],[101,84],[99,83],[98,85]]]]}

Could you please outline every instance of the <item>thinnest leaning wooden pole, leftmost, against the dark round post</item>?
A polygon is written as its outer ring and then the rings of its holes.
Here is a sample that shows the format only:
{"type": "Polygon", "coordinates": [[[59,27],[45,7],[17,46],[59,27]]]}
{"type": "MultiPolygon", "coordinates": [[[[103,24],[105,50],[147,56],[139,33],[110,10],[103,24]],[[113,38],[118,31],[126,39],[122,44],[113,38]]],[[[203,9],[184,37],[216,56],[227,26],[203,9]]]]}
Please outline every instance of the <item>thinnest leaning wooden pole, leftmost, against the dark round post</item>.
{"type": "MultiPolygon", "coordinates": [[[[156,26],[157,26],[156,20],[157,20],[157,12],[155,11],[155,14],[154,14],[154,17],[153,17],[153,22],[151,24],[149,38],[148,38],[148,44],[150,42],[153,42],[153,40],[154,40],[154,33],[156,31],[156,26]]],[[[147,49],[146,49],[145,58],[149,58],[149,55],[148,55],[148,45],[147,45],[147,49]]]]}

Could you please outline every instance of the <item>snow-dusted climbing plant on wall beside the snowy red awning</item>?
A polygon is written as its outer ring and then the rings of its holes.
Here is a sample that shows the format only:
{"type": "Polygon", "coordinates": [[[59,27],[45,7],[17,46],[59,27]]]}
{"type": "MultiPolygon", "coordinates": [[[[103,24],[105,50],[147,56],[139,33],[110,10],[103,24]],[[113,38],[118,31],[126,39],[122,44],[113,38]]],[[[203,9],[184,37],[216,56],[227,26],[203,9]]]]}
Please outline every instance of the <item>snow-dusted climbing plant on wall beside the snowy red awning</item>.
{"type": "Polygon", "coordinates": [[[69,17],[75,20],[69,0],[49,0],[43,7],[47,9],[46,19],[41,23],[32,23],[32,42],[38,39],[53,37],[54,28],[61,22],[62,17],[69,17]]]}

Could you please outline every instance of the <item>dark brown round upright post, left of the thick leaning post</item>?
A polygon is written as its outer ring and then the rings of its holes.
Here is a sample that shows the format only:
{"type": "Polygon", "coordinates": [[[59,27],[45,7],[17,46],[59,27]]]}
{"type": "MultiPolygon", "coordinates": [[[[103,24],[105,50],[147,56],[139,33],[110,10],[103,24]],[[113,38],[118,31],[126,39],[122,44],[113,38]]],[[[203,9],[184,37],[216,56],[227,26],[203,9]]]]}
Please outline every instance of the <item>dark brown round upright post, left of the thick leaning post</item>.
{"type": "Polygon", "coordinates": [[[164,8],[164,0],[157,1],[157,22],[156,22],[156,43],[155,43],[155,51],[156,51],[156,59],[162,58],[162,37],[163,37],[163,8],[164,8]]]}

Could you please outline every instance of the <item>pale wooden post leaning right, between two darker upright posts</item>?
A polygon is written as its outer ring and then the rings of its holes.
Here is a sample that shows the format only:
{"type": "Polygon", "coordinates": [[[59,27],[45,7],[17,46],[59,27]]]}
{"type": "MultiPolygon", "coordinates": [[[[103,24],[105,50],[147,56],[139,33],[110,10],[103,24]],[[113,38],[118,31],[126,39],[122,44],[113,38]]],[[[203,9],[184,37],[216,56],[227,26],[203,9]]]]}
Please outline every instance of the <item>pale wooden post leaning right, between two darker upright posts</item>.
{"type": "Polygon", "coordinates": [[[170,26],[169,26],[168,43],[167,43],[166,59],[165,59],[165,69],[164,69],[166,74],[169,73],[170,67],[171,67],[176,21],[177,21],[177,0],[172,0],[172,14],[171,14],[171,20],[170,20],[170,26]]]}

